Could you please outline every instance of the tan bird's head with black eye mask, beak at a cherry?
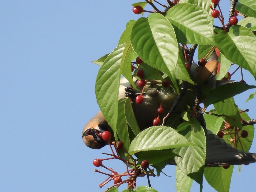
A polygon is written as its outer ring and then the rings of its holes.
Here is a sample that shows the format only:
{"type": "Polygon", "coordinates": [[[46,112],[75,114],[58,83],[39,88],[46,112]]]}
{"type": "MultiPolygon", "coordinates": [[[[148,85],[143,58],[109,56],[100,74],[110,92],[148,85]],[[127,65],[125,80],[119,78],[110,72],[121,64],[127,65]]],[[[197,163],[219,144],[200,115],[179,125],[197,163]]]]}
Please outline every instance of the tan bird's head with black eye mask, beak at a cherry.
{"type": "Polygon", "coordinates": [[[111,131],[101,111],[89,120],[82,132],[85,145],[91,149],[101,149],[107,142],[101,137],[104,131],[111,131]]]}

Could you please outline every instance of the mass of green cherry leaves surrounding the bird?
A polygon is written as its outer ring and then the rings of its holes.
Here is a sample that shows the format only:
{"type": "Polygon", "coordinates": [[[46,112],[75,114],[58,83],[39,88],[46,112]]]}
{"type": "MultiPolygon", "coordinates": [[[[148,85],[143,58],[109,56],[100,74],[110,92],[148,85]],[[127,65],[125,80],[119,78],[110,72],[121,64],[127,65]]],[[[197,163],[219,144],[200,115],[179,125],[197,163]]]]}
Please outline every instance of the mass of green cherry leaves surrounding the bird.
{"type": "MultiPolygon", "coordinates": [[[[138,2],[133,6],[140,5],[144,8],[146,4],[148,3],[138,2]]],[[[239,128],[238,134],[241,130],[249,133],[247,138],[239,138],[239,144],[235,146],[237,149],[249,151],[254,137],[254,126],[243,126],[241,123],[241,119],[248,121],[250,118],[245,112],[240,113],[233,97],[255,89],[256,86],[233,82],[215,87],[208,82],[199,82],[193,76],[192,68],[191,73],[186,68],[184,52],[188,52],[188,49],[185,50],[184,44],[199,44],[198,59],[204,58],[213,46],[220,50],[218,62],[221,63],[221,68],[216,76],[217,80],[222,80],[226,75],[231,62],[249,71],[256,79],[256,37],[252,33],[256,30],[256,4],[255,1],[239,0],[236,9],[249,17],[240,20],[238,25],[231,26],[229,30],[213,28],[210,5],[213,4],[208,0],[181,0],[163,14],[152,13],[137,21],[130,20],[121,34],[117,48],[93,61],[101,66],[95,84],[97,102],[115,134],[115,140],[120,139],[125,149],[136,156],[137,166],[147,159],[155,167],[158,176],[167,164],[176,164],[177,191],[189,191],[193,180],[199,183],[202,190],[203,175],[215,190],[229,191],[233,172],[233,166],[229,169],[205,168],[206,137],[205,130],[193,117],[195,95],[200,95],[200,102],[204,107],[213,104],[215,108],[203,116],[207,129],[217,134],[226,122],[230,123],[232,130],[230,134],[224,135],[226,143],[234,146],[232,134],[236,127],[239,128]],[[134,61],[138,56],[143,60],[141,64],[134,61]],[[144,77],[136,76],[138,69],[131,73],[131,64],[142,69],[144,77]],[[179,110],[171,114],[164,126],[149,126],[141,130],[133,111],[136,104],[134,100],[121,98],[118,101],[121,76],[130,82],[136,92],[141,89],[135,85],[134,80],[144,79],[149,80],[151,88],[171,92],[176,97],[181,93],[184,82],[188,82],[187,92],[191,94],[181,99],[177,107],[179,110]],[[171,82],[163,90],[164,86],[161,84],[166,78],[171,82]]],[[[145,87],[146,93],[149,87],[145,87]]],[[[246,102],[253,99],[255,93],[246,102]]],[[[162,103],[159,102],[160,104],[162,103]]],[[[168,108],[170,109],[171,107],[168,108]]],[[[109,191],[118,190],[114,187],[109,191]]],[[[139,186],[135,191],[156,190],[139,186]]]]}

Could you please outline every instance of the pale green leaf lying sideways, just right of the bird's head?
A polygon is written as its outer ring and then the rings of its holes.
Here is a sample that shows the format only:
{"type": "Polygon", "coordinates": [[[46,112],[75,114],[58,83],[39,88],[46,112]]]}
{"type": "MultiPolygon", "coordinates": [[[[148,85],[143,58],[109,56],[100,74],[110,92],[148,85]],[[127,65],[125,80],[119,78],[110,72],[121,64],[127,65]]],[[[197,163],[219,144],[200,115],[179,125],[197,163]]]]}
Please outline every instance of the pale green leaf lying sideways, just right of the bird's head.
{"type": "Polygon", "coordinates": [[[153,126],[143,130],[133,139],[129,152],[173,149],[190,145],[193,144],[171,127],[153,126]]]}

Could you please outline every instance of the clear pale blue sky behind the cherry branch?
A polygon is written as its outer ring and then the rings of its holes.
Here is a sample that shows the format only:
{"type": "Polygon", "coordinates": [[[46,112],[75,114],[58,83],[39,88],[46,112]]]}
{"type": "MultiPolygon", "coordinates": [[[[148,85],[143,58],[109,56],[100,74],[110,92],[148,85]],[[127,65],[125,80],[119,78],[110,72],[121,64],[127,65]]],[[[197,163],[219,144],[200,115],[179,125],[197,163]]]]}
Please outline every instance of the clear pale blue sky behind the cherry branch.
{"type": "MultiPolygon", "coordinates": [[[[91,61],[111,52],[126,22],[140,17],[131,11],[134,2],[0,2],[1,191],[106,189],[98,187],[105,176],[93,171],[92,161],[106,157],[101,152],[109,149],[89,149],[81,139],[85,123],[99,109],[94,92],[99,67],[91,61]]],[[[248,73],[245,81],[255,85],[248,73]]],[[[244,104],[252,92],[236,103],[256,118],[255,99],[244,104]]],[[[256,153],[255,142],[250,151],[256,153]]],[[[109,166],[124,169],[119,162],[109,166]]],[[[240,175],[237,170],[230,191],[255,189],[256,163],[242,166],[240,175]]],[[[174,191],[175,167],[164,172],[172,177],[153,178],[152,186],[174,191]]],[[[138,179],[139,185],[147,185],[146,178],[138,179]]],[[[193,183],[191,191],[198,190],[193,183]]],[[[203,191],[214,190],[204,181],[203,191]]]]}

